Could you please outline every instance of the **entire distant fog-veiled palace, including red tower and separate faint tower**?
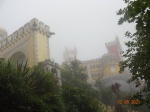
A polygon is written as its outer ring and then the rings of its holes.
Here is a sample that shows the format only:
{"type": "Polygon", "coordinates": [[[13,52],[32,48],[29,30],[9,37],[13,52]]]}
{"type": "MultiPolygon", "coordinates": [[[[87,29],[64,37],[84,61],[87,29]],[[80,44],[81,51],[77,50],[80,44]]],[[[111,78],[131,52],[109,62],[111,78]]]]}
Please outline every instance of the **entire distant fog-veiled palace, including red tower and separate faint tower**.
{"type": "MultiPolygon", "coordinates": [[[[114,83],[121,85],[121,90],[124,91],[137,91],[135,83],[128,84],[126,81],[131,78],[129,70],[126,68],[123,73],[119,73],[119,62],[122,61],[122,47],[120,45],[118,37],[114,41],[105,44],[107,53],[102,57],[87,61],[81,61],[81,66],[86,68],[86,74],[88,75],[87,82],[94,86],[97,80],[101,80],[103,86],[111,86],[114,83]]],[[[65,62],[75,60],[77,50],[65,49],[65,62]]]]}

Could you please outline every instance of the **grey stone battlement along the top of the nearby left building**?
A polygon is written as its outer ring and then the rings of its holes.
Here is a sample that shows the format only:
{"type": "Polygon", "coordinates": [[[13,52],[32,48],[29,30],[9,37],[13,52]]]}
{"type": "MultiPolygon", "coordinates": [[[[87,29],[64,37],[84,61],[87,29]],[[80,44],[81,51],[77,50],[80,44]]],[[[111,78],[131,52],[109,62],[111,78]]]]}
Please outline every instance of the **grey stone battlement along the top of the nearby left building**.
{"type": "Polygon", "coordinates": [[[51,37],[51,35],[55,34],[53,32],[50,32],[49,26],[34,18],[30,22],[26,23],[24,26],[19,28],[17,31],[15,31],[13,34],[1,40],[0,50],[3,51],[15,42],[28,36],[31,33],[31,31],[39,31],[43,35],[46,35],[48,38],[51,37]]]}

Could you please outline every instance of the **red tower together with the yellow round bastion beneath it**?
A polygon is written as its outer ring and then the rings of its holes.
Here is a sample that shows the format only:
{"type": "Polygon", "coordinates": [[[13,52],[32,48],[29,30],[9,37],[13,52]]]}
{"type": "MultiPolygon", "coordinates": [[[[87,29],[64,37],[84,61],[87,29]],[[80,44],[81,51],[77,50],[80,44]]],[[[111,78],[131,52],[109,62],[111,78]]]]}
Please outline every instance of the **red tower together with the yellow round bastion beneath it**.
{"type": "Polygon", "coordinates": [[[101,67],[104,76],[119,74],[119,62],[122,61],[122,48],[118,37],[114,41],[105,44],[108,53],[101,58],[101,67]]]}

